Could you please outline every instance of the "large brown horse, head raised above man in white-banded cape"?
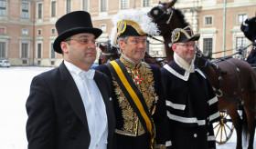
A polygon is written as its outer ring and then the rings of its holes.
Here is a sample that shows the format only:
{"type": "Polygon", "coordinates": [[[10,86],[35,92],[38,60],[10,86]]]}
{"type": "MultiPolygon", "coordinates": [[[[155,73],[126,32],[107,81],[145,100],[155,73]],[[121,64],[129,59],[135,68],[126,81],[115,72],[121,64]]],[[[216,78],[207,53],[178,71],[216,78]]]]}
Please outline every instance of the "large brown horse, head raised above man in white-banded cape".
{"type": "MultiPolygon", "coordinates": [[[[173,8],[175,3],[176,0],[169,3],[159,3],[159,5],[152,8],[148,13],[158,25],[161,35],[163,35],[165,39],[165,53],[169,62],[173,60],[173,50],[168,46],[168,43],[171,42],[172,31],[176,28],[184,28],[188,25],[181,11],[173,8]]],[[[211,64],[210,61],[205,62],[211,64]]],[[[250,134],[248,148],[252,148],[255,133],[255,72],[251,68],[251,65],[234,58],[229,59],[229,61],[221,61],[216,63],[216,65],[221,65],[218,66],[222,67],[221,71],[215,70],[211,65],[207,65],[205,69],[203,67],[199,68],[202,69],[208,76],[211,84],[217,89],[217,94],[219,94],[219,110],[227,109],[227,113],[231,117],[232,123],[237,131],[238,149],[242,148],[242,121],[238,114],[238,105],[243,105],[242,109],[246,114],[243,118],[247,118],[248,131],[250,134]],[[240,73],[236,71],[237,69],[240,70],[240,73]],[[232,74],[230,74],[231,72],[232,74]],[[218,74],[221,74],[221,76],[218,74]],[[222,81],[219,80],[219,78],[222,78],[222,81]],[[221,82],[221,85],[219,82],[221,82]]]]}

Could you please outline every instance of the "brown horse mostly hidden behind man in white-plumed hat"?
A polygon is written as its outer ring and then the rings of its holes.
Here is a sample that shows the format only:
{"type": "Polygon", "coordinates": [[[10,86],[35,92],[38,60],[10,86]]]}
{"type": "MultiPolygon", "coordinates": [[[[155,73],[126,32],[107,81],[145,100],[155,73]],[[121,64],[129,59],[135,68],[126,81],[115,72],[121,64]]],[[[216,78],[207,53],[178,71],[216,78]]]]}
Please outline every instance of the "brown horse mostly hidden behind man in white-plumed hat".
{"type": "MultiPolygon", "coordinates": [[[[109,61],[115,60],[120,57],[119,50],[116,47],[113,47],[110,43],[110,40],[106,43],[100,43],[98,45],[101,49],[101,54],[99,57],[99,65],[105,64],[109,61]]],[[[163,66],[161,61],[157,61],[155,57],[152,57],[148,53],[145,53],[144,55],[144,62],[147,64],[156,65],[159,68],[163,66]]]]}

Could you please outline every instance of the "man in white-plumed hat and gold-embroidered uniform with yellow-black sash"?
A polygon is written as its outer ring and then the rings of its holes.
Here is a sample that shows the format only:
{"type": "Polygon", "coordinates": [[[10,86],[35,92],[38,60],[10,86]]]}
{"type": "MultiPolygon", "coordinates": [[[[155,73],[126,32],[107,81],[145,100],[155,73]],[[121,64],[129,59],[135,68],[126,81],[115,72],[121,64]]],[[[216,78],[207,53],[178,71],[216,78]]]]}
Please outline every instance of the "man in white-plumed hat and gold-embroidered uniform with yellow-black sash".
{"type": "Polygon", "coordinates": [[[165,147],[166,111],[160,69],[142,62],[146,35],[158,35],[157,27],[142,10],[122,11],[112,22],[111,43],[119,46],[122,55],[96,69],[112,80],[116,148],[165,147]]]}

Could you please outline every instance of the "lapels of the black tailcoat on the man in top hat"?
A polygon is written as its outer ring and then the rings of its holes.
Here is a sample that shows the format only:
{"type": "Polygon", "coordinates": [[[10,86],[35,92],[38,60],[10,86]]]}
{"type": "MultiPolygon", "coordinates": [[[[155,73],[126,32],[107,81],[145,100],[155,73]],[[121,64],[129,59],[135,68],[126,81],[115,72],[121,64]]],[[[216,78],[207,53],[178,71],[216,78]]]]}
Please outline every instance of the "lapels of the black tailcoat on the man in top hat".
{"type": "MultiPolygon", "coordinates": [[[[60,71],[60,77],[59,82],[62,89],[62,93],[68,100],[70,106],[74,110],[74,112],[78,115],[80,118],[80,121],[82,124],[84,124],[85,128],[89,131],[88,121],[86,117],[86,112],[84,109],[84,105],[82,103],[82,99],[80,96],[80,92],[78,90],[77,85],[74,82],[74,79],[72,75],[70,75],[68,68],[62,63],[59,65],[59,71],[60,71]],[[72,92],[70,92],[72,91],[72,92]]],[[[114,115],[113,115],[113,109],[112,109],[112,102],[110,101],[110,95],[111,93],[108,93],[109,89],[104,88],[106,87],[106,84],[102,84],[101,79],[105,79],[101,72],[95,71],[94,75],[94,81],[98,85],[98,88],[101,92],[103,101],[105,103],[106,107],[106,114],[108,117],[108,127],[109,127],[109,136],[112,135],[113,129],[114,129],[114,115]]],[[[110,92],[110,91],[109,91],[110,92]]]]}

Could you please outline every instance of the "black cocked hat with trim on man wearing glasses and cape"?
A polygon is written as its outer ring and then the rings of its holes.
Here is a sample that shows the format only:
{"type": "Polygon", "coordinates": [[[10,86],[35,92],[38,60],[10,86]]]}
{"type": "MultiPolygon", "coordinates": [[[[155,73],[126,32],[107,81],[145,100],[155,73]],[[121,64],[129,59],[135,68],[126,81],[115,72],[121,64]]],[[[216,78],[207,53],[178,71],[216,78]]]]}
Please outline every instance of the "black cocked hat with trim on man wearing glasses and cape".
{"type": "Polygon", "coordinates": [[[190,26],[185,28],[176,28],[172,33],[172,44],[197,41],[199,38],[200,35],[194,35],[190,26]]]}

